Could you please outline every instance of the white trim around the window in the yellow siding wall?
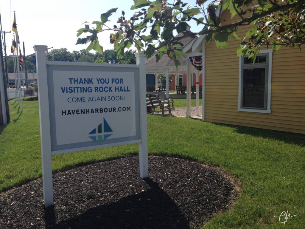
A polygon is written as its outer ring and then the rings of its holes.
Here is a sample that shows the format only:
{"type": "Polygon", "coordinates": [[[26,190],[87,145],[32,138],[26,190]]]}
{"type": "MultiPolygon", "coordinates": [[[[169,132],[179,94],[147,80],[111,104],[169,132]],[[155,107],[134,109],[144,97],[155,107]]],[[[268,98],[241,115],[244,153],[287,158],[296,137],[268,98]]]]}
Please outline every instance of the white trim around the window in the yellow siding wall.
{"type": "Polygon", "coordinates": [[[272,49],[262,50],[261,53],[269,53],[268,58],[268,91],[267,91],[267,109],[247,109],[241,107],[242,101],[242,56],[239,56],[239,80],[238,80],[238,111],[267,113],[271,114],[271,76],[272,76],[272,49]]]}

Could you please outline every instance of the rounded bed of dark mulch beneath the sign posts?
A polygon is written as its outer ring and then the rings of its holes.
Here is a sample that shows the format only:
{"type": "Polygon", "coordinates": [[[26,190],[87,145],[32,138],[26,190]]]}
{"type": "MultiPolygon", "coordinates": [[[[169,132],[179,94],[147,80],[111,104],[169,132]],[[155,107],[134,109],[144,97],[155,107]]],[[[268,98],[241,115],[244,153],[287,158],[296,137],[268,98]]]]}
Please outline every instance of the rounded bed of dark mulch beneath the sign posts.
{"type": "Polygon", "coordinates": [[[0,228],[199,228],[239,195],[220,169],[160,156],[147,179],[133,156],[53,174],[53,185],[47,209],[41,179],[0,193],[0,228]]]}

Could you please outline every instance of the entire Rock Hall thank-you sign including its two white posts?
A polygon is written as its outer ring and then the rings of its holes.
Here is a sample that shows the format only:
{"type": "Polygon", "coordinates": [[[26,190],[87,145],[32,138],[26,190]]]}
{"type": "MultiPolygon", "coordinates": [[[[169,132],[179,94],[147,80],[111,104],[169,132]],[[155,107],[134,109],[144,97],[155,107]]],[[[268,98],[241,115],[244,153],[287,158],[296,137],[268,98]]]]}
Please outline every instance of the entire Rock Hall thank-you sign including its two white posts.
{"type": "Polygon", "coordinates": [[[145,55],[137,64],[46,61],[35,45],[45,207],[53,205],[53,154],[139,143],[148,177],[145,55]]]}

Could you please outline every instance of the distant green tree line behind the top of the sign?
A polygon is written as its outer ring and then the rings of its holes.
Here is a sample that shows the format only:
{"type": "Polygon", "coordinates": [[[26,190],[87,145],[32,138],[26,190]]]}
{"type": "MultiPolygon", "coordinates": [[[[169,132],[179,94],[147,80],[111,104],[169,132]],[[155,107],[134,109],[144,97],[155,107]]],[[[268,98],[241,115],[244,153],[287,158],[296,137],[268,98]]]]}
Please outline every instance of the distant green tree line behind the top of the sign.
{"type": "MultiPolygon", "coordinates": [[[[136,50],[127,50],[124,57],[120,60],[117,59],[117,51],[114,49],[107,49],[103,53],[95,52],[90,53],[83,50],[69,52],[66,48],[52,49],[48,52],[48,60],[51,61],[69,61],[69,62],[89,62],[89,63],[108,63],[109,60],[113,63],[119,64],[136,64],[135,58],[136,50]]],[[[27,56],[27,69],[35,68],[34,54],[27,56]]],[[[13,58],[7,58],[8,72],[14,72],[13,58]]],[[[24,69],[24,67],[23,67],[24,69]]]]}

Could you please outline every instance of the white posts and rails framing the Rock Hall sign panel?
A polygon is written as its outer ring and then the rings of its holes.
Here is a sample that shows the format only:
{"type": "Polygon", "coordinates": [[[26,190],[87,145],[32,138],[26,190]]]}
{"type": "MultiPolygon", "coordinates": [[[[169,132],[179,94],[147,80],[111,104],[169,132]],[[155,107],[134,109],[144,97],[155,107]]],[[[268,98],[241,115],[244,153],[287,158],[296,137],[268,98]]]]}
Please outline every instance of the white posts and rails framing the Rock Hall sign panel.
{"type": "MultiPolygon", "coordinates": [[[[36,70],[37,70],[37,83],[38,83],[38,97],[39,97],[39,118],[40,118],[40,136],[41,136],[41,159],[42,159],[42,181],[43,181],[43,195],[45,207],[54,204],[53,201],[53,184],[52,184],[52,155],[67,152],[76,152],[89,149],[97,149],[104,147],[111,147],[123,144],[139,143],[139,167],[140,177],[148,177],[148,143],[147,143],[147,115],[146,115],[146,76],[145,76],[145,54],[135,53],[137,64],[96,64],[96,63],[78,63],[78,62],[59,62],[46,60],[46,45],[34,45],[36,54],[36,70]],[[56,69],[56,66],[61,69],[64,66],[72,68],[87,67],[98,69],[115,68],[128,68],[133,69],[138,74],[135,77],[135,95],[139,95],[138,101],[138,124],[136,130],[136,137],[124,139],[122,141],[115,141],[109,144],[92,144],[84,147],[68,147],[64,149],[52,150],[52,131],[51,125],[54,125],[54,118],[52,109],[50,113],[50,104],[54,105],[54,97],[50,96],[50,90],[53,85],[50,85],[48,75],[50,74],[49,66],[56,69]],[[138,86],[136,86],[138,85],[138,86]]],[[[114,70],[115,70],[114,69],[114,70]]],[[[113,71],[115,72],[115,71],[113,71]]],[[[53,76],[53,75],[52,75],[53,76]]],[[[50,77],[50,75],[49,75],[50,77]]],[[[137,111],[135,111],[137,113],[137,111]]],[[[136,114],[135,114],[136,115],[136,114]]],[[[53,128],[54,129],[54,128],[53,128]]],[[[54,144],[53,144],[54,145],[54,144]]]]}

